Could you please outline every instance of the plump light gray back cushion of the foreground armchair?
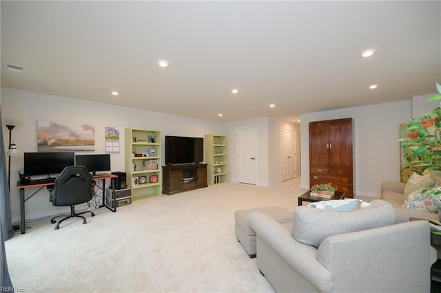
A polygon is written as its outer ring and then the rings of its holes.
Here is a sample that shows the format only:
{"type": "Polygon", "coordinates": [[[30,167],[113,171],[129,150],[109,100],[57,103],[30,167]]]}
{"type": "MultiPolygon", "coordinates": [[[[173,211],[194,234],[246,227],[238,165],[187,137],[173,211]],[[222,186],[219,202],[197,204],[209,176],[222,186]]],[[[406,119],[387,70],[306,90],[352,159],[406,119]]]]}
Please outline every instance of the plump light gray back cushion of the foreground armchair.
{"type": "Polygon", "coordinates": [[[296,241],[318,248],[331,236],[395,224],[391,204],[374,199],[371,206],[360,210],[322,210],[299,206],[294,210],[292,236],[296,241]]]}

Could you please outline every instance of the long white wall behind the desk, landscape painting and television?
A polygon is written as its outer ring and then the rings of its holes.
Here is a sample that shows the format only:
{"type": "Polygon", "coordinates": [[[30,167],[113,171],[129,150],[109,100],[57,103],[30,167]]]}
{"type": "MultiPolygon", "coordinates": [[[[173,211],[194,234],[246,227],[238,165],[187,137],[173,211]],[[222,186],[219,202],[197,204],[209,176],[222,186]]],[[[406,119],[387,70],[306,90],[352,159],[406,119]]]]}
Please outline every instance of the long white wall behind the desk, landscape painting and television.
{"type": "MultiPolygon", "coordinates": [[[[1,88],[1,115],[3,127],[6,122],[12,122],[17,125],[12,131],[12,142],[17,144],[19,149],[19,155],[11,160],[12,221],[18,221],[20,217],[20,195],[19,190],[14,188],[15,182],[19,180],[18,171],[23,169],[23,153],[37,151],[37,120],[39,119],[72,122],[84,121],[93,124],[95,127],[94,153],[105,153],[105,127],[118,127],[120,130],[121,153],[111,154],[112,171],[125,170],[125,128],[158,129],[163,137],[164,135],[203,137],[207,133],[225,133],[225,124],[223,122],[199,120],[127,107],[116,107],[114,105],[48,96],[3,87],[1,88]]],[[[5,135],[8,135],[6,130],[3,132],[5,132],[5,135]]],[[[5,143],[8,144],[8,137],[4,138],[6,138],[5,143]]],[[[164,150],[162,150],[162,153],[164,153],[164,150]]],[[[52,206],[48,198],[49,195],[46,191],[40,191],[32,199],[29,199],[25,206],[26,218],[34,219],[46,215],[54,215],[65,210],[65,208],[52,206]]]]}

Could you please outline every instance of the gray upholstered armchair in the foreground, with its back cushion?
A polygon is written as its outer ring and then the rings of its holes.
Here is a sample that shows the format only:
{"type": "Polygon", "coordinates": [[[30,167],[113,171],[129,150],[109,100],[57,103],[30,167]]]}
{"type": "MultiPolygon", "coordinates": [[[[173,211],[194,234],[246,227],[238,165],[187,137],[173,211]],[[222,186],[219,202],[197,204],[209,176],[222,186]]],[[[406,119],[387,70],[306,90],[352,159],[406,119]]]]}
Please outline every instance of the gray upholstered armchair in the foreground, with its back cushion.
{"type": "Polygon", "coordinates": [[[300,206],[292,231],[252,213],[260,272],[277,292],[430,292],[429,223],[394,224],[390,204],[371,204],[345,212],[300,206]]]}

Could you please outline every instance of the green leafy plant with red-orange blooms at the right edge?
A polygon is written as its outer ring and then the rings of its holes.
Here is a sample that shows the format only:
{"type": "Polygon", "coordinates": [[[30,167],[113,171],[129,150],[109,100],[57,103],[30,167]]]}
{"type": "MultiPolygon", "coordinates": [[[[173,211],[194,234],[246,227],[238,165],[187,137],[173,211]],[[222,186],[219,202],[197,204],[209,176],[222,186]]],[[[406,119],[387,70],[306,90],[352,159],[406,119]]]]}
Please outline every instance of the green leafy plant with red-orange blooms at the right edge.
{"type": "MultiPolygon", "coordinates": [[[[427,101],[441,99],[441,85],[436,83],[439,94],[427,101]]],[[[421,117],[407,121],[407,135],[399,138],[407,155],[409,165],[418,173],[441,171],[441,108],[436,107],[421,117]],[[409,160],[410,159],[410,160],[409,160]]]]}

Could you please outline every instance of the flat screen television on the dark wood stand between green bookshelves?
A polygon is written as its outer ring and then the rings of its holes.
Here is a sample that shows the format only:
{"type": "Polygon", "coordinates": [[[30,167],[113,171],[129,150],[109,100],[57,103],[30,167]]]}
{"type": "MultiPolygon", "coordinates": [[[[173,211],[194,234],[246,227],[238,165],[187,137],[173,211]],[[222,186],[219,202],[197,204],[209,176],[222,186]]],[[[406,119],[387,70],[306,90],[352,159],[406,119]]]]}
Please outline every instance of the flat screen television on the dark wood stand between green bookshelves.
{"type": "Polygon", "coordinates": [[[165,164],[196,164],[203,160],[203,138],[165,136],[165,164]]]}

